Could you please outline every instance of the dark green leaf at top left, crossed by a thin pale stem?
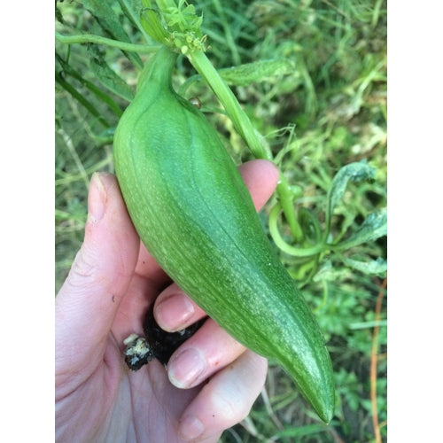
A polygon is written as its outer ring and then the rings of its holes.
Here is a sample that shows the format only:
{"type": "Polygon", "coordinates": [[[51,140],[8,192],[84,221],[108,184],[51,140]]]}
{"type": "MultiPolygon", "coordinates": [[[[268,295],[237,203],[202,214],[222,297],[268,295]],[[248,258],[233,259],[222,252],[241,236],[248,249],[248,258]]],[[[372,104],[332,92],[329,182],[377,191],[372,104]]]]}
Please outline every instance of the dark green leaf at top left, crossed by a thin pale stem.
{"type": "MultiPolygon", "coordinates": [[[[120,42],[131,43],[128,34],[120,24],[120,19],[113,12],[112,3],[100,0],[80,0],[80,2],[97,20],[98,25],[102,27],[106,35],[114,40],[120,40],[120,42]]],[[[134,66],[139,68],[144,66],[138,54],[126,51],[123,51],[123,53],[134,66]]]]}

